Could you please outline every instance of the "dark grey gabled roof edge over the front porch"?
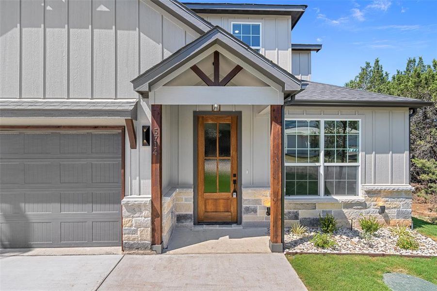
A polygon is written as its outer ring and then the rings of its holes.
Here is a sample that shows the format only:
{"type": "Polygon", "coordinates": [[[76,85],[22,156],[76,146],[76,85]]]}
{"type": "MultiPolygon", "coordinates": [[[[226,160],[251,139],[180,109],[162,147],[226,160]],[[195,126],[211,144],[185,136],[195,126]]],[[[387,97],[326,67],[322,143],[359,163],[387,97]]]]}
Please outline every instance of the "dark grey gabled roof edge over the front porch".
{"type": "Polygon", "coordinates": [[[245,64],[250,65],[257,74],[262,74],[278,84],[284,95],[290,96],[301,89],[301,81],[290,72],[268,60],[218,26],[132,80],[133,89],[147,97],[154,84],[174,73],[202,53],[207,52],[213,46],[219,46],[227,50],[245,64]]]}

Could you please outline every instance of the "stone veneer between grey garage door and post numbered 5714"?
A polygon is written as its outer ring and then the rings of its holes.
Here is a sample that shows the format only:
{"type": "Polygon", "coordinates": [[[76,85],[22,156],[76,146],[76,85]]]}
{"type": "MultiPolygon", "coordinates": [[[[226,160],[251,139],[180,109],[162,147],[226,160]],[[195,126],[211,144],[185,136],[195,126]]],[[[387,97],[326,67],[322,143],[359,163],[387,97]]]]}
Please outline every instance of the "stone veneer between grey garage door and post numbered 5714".
{"type": "Polygon", "coordinates": [[[121,201],[123,215],[123,249],[151,248],[151,198],[128,196],[121,201]]]}

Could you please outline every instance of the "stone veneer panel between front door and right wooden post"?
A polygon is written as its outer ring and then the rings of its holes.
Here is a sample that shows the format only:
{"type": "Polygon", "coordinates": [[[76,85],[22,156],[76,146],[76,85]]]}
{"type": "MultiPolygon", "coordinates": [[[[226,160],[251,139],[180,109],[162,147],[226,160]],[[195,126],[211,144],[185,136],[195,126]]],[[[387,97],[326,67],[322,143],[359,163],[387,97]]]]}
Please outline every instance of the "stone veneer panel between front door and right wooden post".
{"type": "Polygon", "coordinates": [[[270,205],[270,188],[243,187],[243,227],[269,227],[270,216],[265,213],[270,205]]]}

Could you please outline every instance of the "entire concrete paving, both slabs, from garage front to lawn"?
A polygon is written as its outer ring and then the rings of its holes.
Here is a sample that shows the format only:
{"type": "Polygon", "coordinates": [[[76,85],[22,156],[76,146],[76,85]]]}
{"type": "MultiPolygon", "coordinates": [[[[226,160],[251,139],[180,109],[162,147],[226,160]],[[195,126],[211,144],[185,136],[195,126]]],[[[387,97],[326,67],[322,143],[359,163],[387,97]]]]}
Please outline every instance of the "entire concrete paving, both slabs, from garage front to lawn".
{"type": "Polygon", "coordinates": [[[0,290],[307,290],[283,254],[0,257],[0,290]]]}

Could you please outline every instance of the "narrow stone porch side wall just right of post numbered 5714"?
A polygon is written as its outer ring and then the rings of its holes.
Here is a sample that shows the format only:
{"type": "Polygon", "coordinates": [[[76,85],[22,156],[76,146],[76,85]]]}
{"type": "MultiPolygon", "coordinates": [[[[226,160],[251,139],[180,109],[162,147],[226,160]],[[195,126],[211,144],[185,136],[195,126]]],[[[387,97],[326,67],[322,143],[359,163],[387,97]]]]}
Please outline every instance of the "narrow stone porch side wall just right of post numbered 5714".
{"type": "Polygon", "coordinates": [[[176,227],[175,193],[176,189],[172,188],[162,197],[162,244],[164,248],[168,246],[176,227]]]}

